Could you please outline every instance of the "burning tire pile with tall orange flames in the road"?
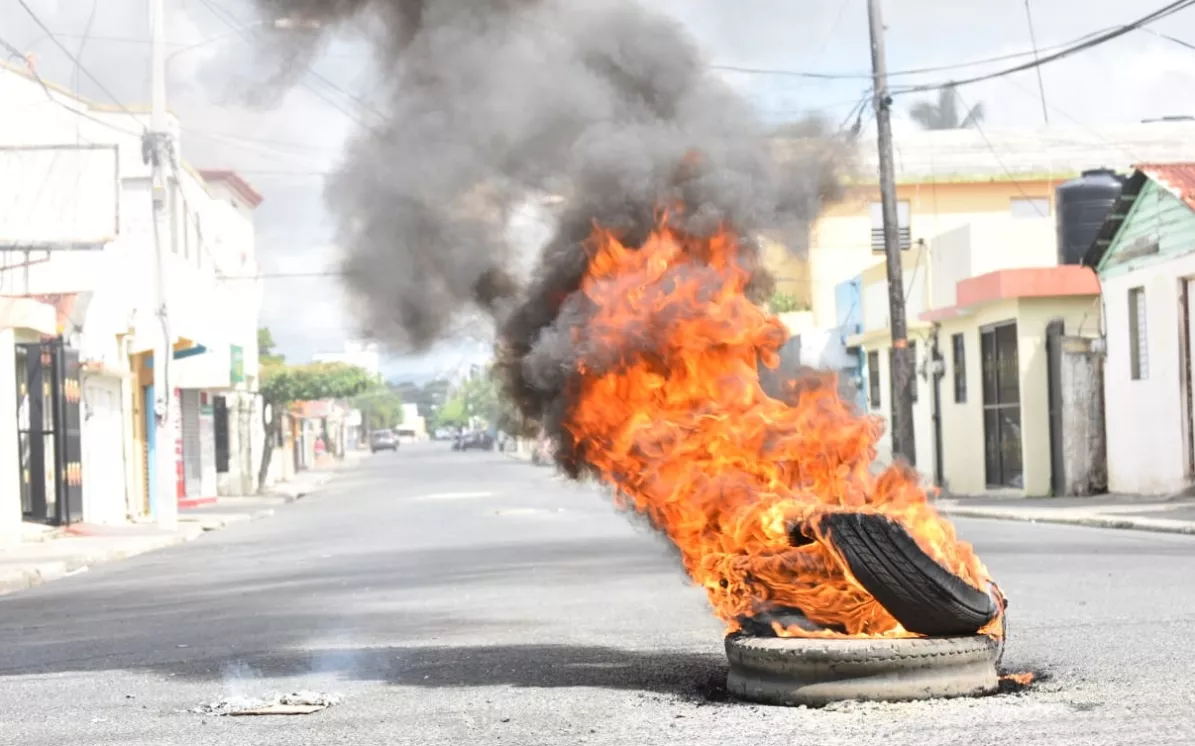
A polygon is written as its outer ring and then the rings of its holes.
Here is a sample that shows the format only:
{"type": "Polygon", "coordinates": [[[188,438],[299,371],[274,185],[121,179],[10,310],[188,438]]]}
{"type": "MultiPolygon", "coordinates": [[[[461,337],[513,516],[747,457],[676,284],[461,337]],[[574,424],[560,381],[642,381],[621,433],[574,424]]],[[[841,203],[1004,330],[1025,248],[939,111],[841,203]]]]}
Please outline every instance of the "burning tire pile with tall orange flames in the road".
{"type": "MultiPolygon", "coordinates": [[[[783,398],[759,365],[788,340],[753,301],[752,246],[727,226],[638,245],[596,226],[544,340],[576,357],[560,458],[648,516],[727,623],[728,689],[774,704],[999,689],[1006,603],[902,465],[874,473],[877,418],[833,374],[783,398]]],[[[522,365],[533,363],[532,346],[522,365]]],[[[508,360],[509,365],[509,360],[508,360]]]]}

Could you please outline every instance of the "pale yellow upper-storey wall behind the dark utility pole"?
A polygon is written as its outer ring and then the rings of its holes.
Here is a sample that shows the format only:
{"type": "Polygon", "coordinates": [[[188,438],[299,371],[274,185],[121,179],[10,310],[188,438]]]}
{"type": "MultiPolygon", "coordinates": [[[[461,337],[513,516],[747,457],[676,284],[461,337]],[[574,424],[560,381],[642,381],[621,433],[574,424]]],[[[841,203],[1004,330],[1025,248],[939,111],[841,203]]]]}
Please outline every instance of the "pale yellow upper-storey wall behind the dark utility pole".
{"type": "MultiPolygon", "coordinates": [[[[1062,179],[1060,179],[1062,181],[1062,179]]],[[[995,237],[1044,234],[1054,230],[1052,215],[1013,218],[1011,204],[1015,198],[1046,197],[1053,203],[1053,191],[1059,182],[1046,179],[985,183],[927,183],[902,184],[896,188],[897,200],[909,203],[909,231],[913,247],[917,240],[927,243],[949,231],[972,226],[973,236],[995,237]],[[1030,226],[1029,224],[1034,224],[1030,226]]],[[[814,226],[809,268],[813,287],[813,310],[819,326],[832,323],[834,316],[834,288],[883,259],[882,253],[871,250],[871,202],[880,200],[877,189],[858,189],[839,204],[829,207],[814,226]]],[[[1053,245],[1053,244],[1052,244],[1053,245]]],[[[1005,243],[987,256],[1006,257],[1012,265],[1025,264],[1019,255],[1022,247],[1005,243]]],[[[976,268],[973,274],[989,271],[976,268]]]]}

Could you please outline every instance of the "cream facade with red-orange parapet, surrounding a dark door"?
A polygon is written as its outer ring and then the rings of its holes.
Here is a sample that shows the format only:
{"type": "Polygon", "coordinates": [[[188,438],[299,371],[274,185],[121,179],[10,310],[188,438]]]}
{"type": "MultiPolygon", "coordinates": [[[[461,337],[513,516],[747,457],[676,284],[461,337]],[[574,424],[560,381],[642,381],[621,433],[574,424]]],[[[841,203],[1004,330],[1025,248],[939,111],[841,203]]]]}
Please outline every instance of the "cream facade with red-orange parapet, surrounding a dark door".
{"type": "MultiPolygon", "coordinates": [[[[1031,298],[981,306],[974,313],[942,323],[939,346],[945,363],[942,379],[942,440],[945,488],[956,495],[980,495],[987,485],[983,452],[983,380],[980,330],[992,324],[1017,323],[1017,363],[1021,371],[1021,453],[1024,495],[1050,493],[1049,389],[1046,328],[1061,318],[1066,334],[1095,336],[1099,329],[1096,296],[1031,298]],[[951,337],[963,335],[964,402],[955,400],[951,337]]],[[[932,424],[932,423],[931,423],[932,424]]]]}

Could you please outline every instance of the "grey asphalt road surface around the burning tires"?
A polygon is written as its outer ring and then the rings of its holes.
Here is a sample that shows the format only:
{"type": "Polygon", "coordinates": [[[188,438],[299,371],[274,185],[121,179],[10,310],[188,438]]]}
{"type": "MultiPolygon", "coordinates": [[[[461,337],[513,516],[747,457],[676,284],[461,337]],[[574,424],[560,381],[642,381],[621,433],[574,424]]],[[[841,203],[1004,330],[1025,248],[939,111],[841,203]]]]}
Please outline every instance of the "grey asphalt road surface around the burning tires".
{"type": "Polygon", "coordinates": [[[825,710],[722,701],[721,626],[594,489],[447,446],[272,518],[0,599],[0,742],[1120,745],[1195,740],[1195,539],[960,521],[1027,693],[825,710]],[[312,689],[294,717],[188,711],[312,689]]]}

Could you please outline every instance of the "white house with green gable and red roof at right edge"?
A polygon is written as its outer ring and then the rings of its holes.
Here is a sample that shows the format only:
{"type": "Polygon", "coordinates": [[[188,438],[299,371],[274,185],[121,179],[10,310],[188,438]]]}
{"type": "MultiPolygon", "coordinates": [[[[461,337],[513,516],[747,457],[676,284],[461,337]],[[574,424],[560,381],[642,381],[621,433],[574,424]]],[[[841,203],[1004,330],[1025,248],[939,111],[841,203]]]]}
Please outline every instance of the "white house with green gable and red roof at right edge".
{"type": "Polygon", "coordinates": [[[1195,163],[1138,165],[1087,253],[1103,291],[1108,489],[1195,479],[1195,163]]]}

